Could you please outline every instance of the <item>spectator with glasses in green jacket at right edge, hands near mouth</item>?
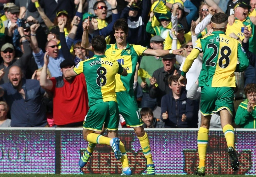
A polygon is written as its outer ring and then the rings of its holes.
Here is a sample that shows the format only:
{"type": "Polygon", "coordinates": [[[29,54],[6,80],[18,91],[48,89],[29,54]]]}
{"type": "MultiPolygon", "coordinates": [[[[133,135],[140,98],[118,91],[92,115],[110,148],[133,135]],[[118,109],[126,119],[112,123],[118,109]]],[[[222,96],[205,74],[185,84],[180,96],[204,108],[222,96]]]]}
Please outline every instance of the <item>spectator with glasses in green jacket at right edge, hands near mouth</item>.
{"type": "Polygon", "coordinates": [[[256,84],[248,84],[244,89],[246,99],[240,103],[235,123],[240,128],[256,128],[256,84]]]}

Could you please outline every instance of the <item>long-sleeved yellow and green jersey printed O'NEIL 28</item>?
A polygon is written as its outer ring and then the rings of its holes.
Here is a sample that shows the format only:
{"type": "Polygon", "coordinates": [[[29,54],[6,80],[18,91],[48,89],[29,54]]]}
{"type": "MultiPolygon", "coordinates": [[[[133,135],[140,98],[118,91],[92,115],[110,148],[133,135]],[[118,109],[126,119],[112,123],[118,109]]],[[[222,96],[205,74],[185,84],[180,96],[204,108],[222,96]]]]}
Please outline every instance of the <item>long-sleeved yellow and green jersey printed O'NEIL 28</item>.
{"type": "Polygon", "coordinates": [[[226,36],[222,31],[214,31],[196,41],[182,68],[183,76],[200,52],[204,56],[199,87],[236,87],[234,72],[242,72],[249,66],[249,60],[238,40],[226,36]]]}

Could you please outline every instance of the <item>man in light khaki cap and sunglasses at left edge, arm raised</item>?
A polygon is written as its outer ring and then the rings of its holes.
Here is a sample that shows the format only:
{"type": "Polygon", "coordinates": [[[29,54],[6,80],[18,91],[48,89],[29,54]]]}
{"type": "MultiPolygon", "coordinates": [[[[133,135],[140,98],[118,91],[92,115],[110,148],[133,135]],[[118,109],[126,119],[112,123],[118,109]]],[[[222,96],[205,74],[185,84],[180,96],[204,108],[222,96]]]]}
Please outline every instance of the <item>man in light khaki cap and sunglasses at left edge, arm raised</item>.
{"type": "Polygon", "coordinates": [[[32,57],[32,50],[28,40],[24,36],[23,29],[19,30],[19,34],[23,44],[24,54],[18,60],[14,59],[15,49],[12,44],[5,43],[1,47],[1,57],[3,58],[3,62],[0,65],[0,84],[7,83],[9,81],[8,72],[11,66],[19,66],[24,71],[27,68],[29,59],[32,57]]]}

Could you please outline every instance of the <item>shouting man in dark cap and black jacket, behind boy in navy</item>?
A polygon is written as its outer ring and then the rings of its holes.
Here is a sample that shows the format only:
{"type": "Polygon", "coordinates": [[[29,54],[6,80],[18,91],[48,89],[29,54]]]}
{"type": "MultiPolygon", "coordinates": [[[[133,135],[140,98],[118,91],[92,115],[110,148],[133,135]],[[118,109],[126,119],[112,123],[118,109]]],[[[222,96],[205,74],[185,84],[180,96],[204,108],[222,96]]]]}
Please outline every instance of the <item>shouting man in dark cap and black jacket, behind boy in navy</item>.
{"type": "Polygon", "coordinates": [[[180,73],[179,69],[174,66],[176,62],[174,54],[163,56],[161,59],[164,66],[154,71],[149,86],[149,96],[157,101],[157,108],[154,110],[156,118],[160,118],[161,115],[162,97],[171,91],[168,86],[168,78],[180,73]],[[158,84],[157,87],[155,86],[156,83],[158,84]]]}

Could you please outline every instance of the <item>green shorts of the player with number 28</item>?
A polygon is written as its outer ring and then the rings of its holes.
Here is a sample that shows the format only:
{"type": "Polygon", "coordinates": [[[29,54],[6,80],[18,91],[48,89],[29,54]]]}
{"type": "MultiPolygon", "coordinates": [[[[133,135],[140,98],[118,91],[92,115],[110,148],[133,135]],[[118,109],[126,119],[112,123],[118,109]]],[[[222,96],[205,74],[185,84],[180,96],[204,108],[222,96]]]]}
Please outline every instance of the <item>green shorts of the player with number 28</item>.
{"type": "Polygon", "coordinates": [[[234,88],[232,87],[208,87],[201,89],[201,113],[204,116],[213,113],[219,114],[219,111],[226,108],[231,115],[234,110],[234,88]]]}

